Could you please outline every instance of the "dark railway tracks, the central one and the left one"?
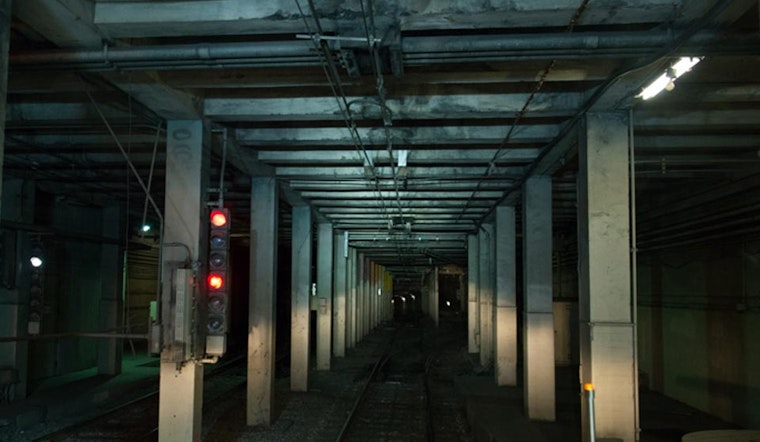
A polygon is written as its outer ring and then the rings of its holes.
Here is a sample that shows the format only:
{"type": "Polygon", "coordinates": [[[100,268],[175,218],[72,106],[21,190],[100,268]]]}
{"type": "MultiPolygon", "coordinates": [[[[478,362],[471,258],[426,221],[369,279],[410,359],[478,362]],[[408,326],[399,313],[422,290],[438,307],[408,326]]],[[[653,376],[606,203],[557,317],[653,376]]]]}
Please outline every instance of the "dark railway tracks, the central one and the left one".
{"type": "MultiPolygon", "coordinates": [[[[425,321],[381,328],[353,359],[315,374],[310,392],[290,392],[282,378],[277,393],[281,411],[271,427],[245,425],[243,358],[215,370],[204,382],[203,440],[471,441],[453,383],[457,370],[466,369],[457,368],[466,364],[457,350],[462,343],[451,341],[458,335],[447,332],[445,323],[436,329],[425,321]]],[[[37,440],[157,440],[155,392],[107,411],[37,440]]]]}

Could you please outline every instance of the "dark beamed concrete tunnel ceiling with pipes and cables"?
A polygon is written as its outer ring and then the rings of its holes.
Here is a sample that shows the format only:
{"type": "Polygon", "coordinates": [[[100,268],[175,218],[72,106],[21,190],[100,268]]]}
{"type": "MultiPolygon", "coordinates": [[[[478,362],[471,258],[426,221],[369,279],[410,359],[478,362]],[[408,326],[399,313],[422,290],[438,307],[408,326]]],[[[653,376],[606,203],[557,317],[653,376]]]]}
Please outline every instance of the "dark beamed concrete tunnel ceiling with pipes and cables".
{"type": "Polygon", "coordinates": [[[466,234],[532,174],[554,177],[555,232],[574,234],[579,121],[630,110],[655,247],[689,213],[760,202],[737,197],[758,194],[758,15],[756,0],[16,0],[4,177],[141,214],[121,149],[163,201],[165,121],[202,118],[238,225],[250,175],[274,175],[403,272],[465,264],[466,234]],[[635,98],[682,55],[705,58],[635,98]]]}

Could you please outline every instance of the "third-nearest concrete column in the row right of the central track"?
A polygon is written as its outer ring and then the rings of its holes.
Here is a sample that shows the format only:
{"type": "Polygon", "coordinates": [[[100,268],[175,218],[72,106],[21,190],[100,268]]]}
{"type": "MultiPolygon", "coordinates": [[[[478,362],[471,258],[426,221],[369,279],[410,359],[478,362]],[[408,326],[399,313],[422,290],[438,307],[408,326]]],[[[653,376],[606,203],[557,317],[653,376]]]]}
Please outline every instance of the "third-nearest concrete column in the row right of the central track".
{"type": "Polygon", "coordinates": [[[496,385],[517,385],[515,208],[496,207],[496,385]]]}

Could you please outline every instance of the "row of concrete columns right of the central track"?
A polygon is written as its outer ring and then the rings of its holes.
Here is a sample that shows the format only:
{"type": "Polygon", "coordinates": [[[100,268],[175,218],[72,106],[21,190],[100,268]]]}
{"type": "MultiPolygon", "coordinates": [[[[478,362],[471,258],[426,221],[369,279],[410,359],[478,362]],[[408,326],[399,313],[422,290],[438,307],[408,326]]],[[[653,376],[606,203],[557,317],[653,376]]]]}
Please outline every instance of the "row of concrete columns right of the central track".
{"type": "MultiPolygon", "coordinates": [[[[588,114],[578,143],[579,391],[596,391],[596,435],[634,441],[638,432],[635,324],[631,306],[629,115],[588,114]]],[[[555,419],[551,178],[522,188],[522,349],[525,413],[555,419]]],[[[515,208],[468,237],[468,349],[517,385],[515,208]]],[[[583,399],[583,440],[589,440],[583,399]]]]}

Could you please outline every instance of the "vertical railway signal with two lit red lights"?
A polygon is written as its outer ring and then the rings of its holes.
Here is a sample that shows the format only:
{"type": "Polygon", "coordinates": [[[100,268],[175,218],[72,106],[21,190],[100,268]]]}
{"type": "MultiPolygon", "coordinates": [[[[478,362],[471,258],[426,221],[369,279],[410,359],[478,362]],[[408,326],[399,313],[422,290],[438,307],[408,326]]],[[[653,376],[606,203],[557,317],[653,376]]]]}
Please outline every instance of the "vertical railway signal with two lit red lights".
{"type": "Polygon", "coordinates": [[[208,238],[206,354],[222,356],[227,350],[227,331],[230,322],[230,213],[227,209],[212,208],[210,210],[208,238]]]}

